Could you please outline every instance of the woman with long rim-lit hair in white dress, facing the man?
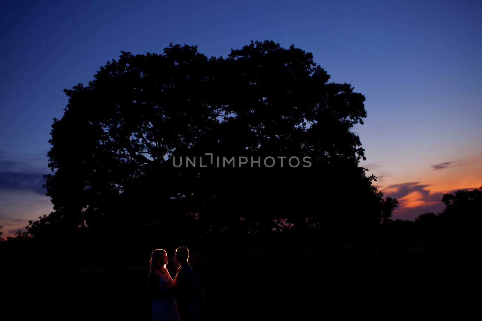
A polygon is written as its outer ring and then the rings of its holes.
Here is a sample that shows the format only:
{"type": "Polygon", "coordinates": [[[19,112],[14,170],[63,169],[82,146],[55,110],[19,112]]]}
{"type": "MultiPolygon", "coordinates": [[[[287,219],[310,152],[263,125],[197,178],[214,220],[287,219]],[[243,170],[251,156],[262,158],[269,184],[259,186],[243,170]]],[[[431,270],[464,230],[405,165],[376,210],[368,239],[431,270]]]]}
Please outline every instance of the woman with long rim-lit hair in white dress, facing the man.
{"type": "Polygon", "coordinates": [[[149,263],[148,289],[153,296],[152,321],[179,321],[172,288],[173,278],[166,269],[166,251],[154,250],[149,263]]]}

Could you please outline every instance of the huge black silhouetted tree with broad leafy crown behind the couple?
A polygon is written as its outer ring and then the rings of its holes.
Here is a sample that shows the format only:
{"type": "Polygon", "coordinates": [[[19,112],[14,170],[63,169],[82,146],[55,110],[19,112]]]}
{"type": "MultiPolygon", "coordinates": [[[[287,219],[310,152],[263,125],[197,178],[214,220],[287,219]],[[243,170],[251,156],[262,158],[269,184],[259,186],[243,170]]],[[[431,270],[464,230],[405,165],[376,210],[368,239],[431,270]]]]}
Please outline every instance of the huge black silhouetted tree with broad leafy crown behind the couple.
{"type": "Polygon", "coordinates": [[[53,173],[45,176],[54,212],[29,232],[378,224],[383,195],[359,167],[364,150],[352,131],[366,117],[365,98],[329,78],[311,53],[272,41],[251,42],[226,59],[187,45],[122,52],[88,86],[65,90],[64,116],[51,131],[53,173]],[[173,157],[206,161],[205,153],[277,162],[173,166],[173,157]],[[279,156],[287,157],[283,167],[279,156]],[[312,166],[290,167],[291,156],[309,156],[312,166]]]}

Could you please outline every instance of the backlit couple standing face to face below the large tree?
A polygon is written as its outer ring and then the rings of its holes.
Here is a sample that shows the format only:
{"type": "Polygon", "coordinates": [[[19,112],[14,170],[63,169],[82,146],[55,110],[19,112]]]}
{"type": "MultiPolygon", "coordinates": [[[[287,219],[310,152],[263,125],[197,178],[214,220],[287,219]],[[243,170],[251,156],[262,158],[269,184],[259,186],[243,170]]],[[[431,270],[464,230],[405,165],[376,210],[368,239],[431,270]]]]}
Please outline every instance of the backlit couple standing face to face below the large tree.
{"type": "Polygon", "coordinates": [[[167,252],[154,250],[150,258],[148,289],[153,296],[153,321],[195,321],[198,283],[187,259],[189,250],[178,247],[174,260],[180,265],[173,278],[166,268],[167,252]]]}

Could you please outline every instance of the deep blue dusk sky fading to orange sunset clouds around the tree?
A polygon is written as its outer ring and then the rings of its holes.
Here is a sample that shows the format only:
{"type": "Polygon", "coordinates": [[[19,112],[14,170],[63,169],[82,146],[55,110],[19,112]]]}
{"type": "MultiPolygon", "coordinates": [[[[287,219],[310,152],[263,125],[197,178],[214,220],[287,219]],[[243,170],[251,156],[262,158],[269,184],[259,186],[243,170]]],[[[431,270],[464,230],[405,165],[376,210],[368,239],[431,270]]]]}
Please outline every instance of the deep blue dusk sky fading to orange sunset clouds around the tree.
{"type": "Polygon", "coordinates": [[[482,186],[481,13],[481,1],[2,1],[3,236],[52,211],[41,177],[63,89],[170,42],[208,57],[265,39],[312,52],[366,97],[361,165],[400,201],[394,218],[440,212],[443,193],[482,186]]]}

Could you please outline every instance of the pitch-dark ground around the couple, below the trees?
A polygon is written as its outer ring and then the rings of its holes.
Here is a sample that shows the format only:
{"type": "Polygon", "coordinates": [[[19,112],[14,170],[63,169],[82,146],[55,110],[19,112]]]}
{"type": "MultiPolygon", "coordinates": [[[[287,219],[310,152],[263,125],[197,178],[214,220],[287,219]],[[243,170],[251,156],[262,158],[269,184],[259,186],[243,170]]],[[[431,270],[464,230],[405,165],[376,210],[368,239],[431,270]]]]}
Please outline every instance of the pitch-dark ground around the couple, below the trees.
{"type": "MultiPolygon", "coordinates": [[[[282,243],[193,245],[199,320],[482,320],[480,233],[282,243]]],[[[43,268],[26,261],[2,273],[13,284],[3,310],[20,320],[149,320],[143,254],[76,269],[58,257],[43,268]]]]}

